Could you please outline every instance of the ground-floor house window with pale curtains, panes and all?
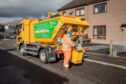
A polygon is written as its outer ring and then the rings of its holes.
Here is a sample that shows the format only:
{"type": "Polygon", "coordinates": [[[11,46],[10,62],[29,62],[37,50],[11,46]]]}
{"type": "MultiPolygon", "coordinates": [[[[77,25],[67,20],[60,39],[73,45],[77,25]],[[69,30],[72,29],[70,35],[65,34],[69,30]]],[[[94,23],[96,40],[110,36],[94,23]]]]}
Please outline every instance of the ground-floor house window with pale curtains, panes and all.
{"type": "Polygon", "coordinates": [[[93,28],[94,39],[106,39],[106,26],[94,26],[93,28]]]}

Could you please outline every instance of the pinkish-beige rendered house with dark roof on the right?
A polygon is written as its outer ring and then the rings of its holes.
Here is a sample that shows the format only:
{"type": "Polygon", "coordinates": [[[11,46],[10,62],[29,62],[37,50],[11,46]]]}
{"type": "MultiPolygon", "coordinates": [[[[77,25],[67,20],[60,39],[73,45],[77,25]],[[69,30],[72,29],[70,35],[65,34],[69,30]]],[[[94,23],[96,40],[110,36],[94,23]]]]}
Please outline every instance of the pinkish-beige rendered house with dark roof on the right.
{"type": "Polygon", "coordinates": [[[86,32],[93,43],[112,41],[126,51],[126,0],[73,0],[58,11],[89,21],[86,32]]]}

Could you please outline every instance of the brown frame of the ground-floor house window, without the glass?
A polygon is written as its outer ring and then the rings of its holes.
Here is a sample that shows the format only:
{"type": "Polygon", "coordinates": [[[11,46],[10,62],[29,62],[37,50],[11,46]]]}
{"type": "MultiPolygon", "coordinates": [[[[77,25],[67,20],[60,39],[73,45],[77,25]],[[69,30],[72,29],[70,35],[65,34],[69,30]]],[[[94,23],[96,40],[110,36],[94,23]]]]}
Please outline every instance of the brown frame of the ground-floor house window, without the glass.
{"type": "MultiPolygon", "coordinates": [[[[103,33],[103,31],[102,31],[103,33]]],[[[106,40],[106,25],[96,25],[93,26],[93,39],[101,39],[101,40],[106,40]],[[100,34],[101,32],[101,27],[104,28],[104,34],[100,34]],[[97,34],[95,35],[95,29],[97,31],[97,34]]]]}

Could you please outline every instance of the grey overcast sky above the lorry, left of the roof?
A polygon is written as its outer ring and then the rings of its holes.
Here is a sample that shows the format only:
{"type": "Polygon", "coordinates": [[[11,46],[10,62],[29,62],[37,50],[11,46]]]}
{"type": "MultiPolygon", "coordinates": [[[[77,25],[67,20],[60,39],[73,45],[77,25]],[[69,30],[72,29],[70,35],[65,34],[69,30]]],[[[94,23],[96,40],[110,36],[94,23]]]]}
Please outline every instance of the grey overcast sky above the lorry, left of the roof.
{"type": "MultiPolygon", "coordinates": [[[[67,4],[71,0],[0,0],[0,19],[40,17],[67,4]]],[[[0,20],[1,21],[1,20],[0,20]]]]}

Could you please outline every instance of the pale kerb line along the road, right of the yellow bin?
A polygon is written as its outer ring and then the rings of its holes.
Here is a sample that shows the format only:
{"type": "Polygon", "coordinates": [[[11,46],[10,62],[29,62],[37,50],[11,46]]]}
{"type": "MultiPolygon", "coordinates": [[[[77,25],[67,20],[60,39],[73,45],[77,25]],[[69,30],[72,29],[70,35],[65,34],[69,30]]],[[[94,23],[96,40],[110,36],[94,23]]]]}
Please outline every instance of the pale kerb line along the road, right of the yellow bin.
{"type": "Polygon", "coordinates": [[[97,61],[97,60],[91,60],[91,59],[84,59],[84,61],[102,64],[102,65],[106,65],[106,66],[112,66],[112,67],[126,70],[126,66],[122,66],[122,65],[117,65],[117,64],[112,64],[112,63],[107,63],[107,62],[102,62],[102,61],[97,61]]]}

